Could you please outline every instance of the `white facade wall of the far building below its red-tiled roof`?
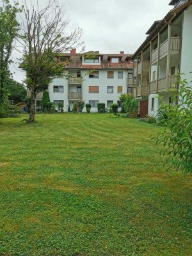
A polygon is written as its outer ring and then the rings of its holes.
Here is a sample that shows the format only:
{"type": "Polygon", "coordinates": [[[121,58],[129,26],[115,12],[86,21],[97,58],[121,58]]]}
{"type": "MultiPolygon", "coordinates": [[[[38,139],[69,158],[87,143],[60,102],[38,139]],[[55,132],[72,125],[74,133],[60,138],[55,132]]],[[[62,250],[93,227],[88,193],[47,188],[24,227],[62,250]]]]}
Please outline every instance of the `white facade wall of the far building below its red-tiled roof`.
{"type": "MultiPolygon", "coordinates": [[[[54,100],[64,101],[64,111],[72,110],[72,105],[76,101],[68,101],[68,92],[77,92],[77,86],[81,86],[83,100],[85,103],[89,103],[90,100],[99,100],[100,103],[105,103],[107,107],[107,100],[113,100],[113,103],[117,103],[121,93],[117,92],[118,86],[123,86],[123,93],[127,93],[127,70],[110,70],[114,71],[114,78],[108,78],[108,70],[99,70],[99,78],[89,78],[88,70],[82,70],[83,82],[82,84],[70,84],[65,78],[54,79],[49,86],[49,97],[51,102],[54,100]],[[118,71],[123,72],[123,79],[118,78],[118,71]],[[54,93],[54,85],[63,85],[63,93],[54,93]],[[99,93],[89,93],[89,86],[99,86],[99,93]],[[107,93],[107,87],[113,86],[113,93],[107,93]]],[[[131,72],[131,71],[129,71],[131,72]]],[[[120,109],[119,109],[120,110],[120,109]]],[[[86,108],[83,109],[86,112],[86,108]]],[[[97,108],[92,108],[91,112],[97,112],[97,108]]]]}

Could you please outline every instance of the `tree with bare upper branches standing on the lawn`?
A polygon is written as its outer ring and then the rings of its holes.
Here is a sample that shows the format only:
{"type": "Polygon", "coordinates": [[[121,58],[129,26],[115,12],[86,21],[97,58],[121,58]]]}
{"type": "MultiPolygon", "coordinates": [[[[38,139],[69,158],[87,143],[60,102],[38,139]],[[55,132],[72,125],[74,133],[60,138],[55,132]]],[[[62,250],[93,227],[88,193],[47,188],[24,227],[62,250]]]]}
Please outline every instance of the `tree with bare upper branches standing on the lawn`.
{"type": "Polygon", "coordinates": [[[31,89],[31,108],[28,122],[35,122],[35,98],[40,90],[55,77],[63,77],[66,62],[58,59],[60,52],[79,47],[82,31],[74,26],[69,29],[70,20],[55,0],[49,0],[45,8],[24,4],[22,26],[23,58],[20,67],[26,71],[26,84],[31,89]]]}

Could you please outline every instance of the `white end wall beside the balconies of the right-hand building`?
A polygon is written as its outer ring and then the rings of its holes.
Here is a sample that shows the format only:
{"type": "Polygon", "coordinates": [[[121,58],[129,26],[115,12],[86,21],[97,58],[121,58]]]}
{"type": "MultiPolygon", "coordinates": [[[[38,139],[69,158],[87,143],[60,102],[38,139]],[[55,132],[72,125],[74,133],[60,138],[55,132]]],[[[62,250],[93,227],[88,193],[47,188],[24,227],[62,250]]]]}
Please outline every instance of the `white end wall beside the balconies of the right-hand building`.
{"type": "Polygon", "coordinates": [[[184,11],[182,27],[180,72],[185,74],[182,78],[190,82],[192,80],[192,76],[189,74],[192,71],[192,6],[184,11]]]}

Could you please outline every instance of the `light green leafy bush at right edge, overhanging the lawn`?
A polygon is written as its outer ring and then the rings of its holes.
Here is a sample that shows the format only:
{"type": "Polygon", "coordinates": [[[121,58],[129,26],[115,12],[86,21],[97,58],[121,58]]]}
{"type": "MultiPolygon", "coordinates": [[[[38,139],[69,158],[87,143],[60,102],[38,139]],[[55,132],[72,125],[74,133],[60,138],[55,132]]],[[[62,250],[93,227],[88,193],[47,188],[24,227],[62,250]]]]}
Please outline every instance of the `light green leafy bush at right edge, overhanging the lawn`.
{"type": "Polygon", "coordinates": [[[164,153],[168,153],[177,170],[192,173],[192,86],[186,79],[182,81],[180,76],[178,83],[179,91],[173,100],[179,99],[179,104],[172,106],[161,102],[165,128],[157,143],[164,146],[164,153]]]}

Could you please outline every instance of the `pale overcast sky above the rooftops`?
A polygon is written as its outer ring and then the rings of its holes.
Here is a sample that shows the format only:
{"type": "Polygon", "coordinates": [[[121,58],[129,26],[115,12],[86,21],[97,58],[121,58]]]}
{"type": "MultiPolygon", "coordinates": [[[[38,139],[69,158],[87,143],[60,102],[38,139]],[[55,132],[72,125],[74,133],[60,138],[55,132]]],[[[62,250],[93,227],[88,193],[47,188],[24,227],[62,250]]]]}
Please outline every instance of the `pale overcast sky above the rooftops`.
{"type": "MultiPolygon", "coordinates": [[[[47,3],[40,0],[40,3],[47,3]]],[[[85,51],[134,53],[145,40],[154,20],[163,19],[172,8],[170,0],[58,0],[65,4],[72,24],[83,28],[85,51]]],[[[13,59],[18,56],[13,52],[13,59]]],[[[12,67],[17,81],[23,72],[12,67]]]]}

